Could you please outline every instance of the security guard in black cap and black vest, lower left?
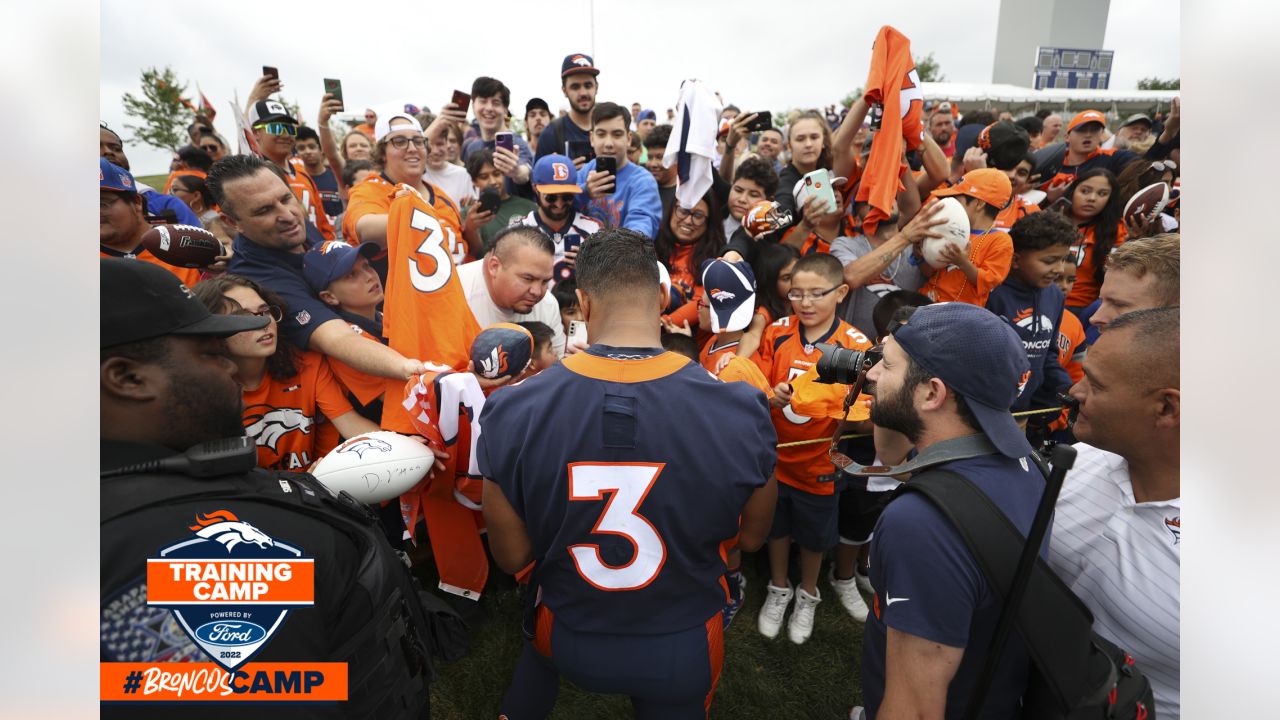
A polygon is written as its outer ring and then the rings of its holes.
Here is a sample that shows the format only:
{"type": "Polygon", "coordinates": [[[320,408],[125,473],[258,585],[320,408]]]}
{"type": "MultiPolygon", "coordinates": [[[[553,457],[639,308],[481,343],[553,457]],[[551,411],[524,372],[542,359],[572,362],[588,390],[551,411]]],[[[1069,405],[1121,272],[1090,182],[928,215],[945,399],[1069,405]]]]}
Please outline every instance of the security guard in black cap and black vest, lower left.
{"type": "Polygon", "coordinates": [[[376,516],[310,475],[255,468],[223,338],[266,319],[212,315],[172,273],[124,259],[101,260],[101,660],[210,661],[201,629],[147,605],[147,559],[221,520],[314,559],[314,605],[291,609],[247,665],[348,670],[346,702],[105,702],[102,716],[429,717],[430,623],[376,516]]]}

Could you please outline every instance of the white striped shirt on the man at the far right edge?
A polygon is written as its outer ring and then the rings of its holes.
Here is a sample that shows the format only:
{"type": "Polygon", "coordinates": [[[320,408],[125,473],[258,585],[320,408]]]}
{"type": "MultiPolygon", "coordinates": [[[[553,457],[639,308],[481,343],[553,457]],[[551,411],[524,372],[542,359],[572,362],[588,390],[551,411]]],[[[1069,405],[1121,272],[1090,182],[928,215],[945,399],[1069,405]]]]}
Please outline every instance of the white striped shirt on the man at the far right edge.
{"type": "Polygon", "coordinates": [[[1093,629],[1138,661],[1161,720],[1176,720],[1181,498],[1135,502],[1124,457],[1075,447],[1050,565],[1093,612],[1093,629]]]}

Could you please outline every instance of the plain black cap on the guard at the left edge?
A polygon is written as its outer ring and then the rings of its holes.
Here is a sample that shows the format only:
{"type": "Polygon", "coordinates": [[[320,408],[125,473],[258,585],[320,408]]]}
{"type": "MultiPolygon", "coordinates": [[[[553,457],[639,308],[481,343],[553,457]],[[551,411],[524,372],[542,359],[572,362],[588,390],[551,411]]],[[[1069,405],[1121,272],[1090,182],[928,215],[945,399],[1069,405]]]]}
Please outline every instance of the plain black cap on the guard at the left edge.
{"type": "Polygon", "coordinates": [[[230,337],[269,322],[257,315],[214,315],[178,275],[151,263],[102,258],[100,347],[166,334],[230,337]]]}

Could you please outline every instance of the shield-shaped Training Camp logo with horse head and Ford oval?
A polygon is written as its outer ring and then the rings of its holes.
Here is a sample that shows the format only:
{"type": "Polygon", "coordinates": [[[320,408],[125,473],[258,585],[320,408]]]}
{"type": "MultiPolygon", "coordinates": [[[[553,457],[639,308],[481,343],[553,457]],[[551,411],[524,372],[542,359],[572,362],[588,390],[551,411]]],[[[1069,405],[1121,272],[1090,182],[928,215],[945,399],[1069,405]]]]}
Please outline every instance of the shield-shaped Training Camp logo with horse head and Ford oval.
{"type": "Polygon", "coordinates": [[[247,662],[294,607],[315,603],[315,561],[228,510],[196,516],[192,534],[147,559],[147,606],[228,671],[247,662]]]}

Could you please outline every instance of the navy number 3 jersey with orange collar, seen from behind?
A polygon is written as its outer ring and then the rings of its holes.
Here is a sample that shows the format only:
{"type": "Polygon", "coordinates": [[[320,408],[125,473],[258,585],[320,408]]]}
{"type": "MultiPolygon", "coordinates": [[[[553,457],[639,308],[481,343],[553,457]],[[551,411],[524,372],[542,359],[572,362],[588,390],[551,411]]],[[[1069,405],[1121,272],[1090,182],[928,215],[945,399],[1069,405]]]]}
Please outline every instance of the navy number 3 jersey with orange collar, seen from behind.
{"type": "Polygon", "coordinates": [[[595,345],[494,391],[480,432],[480,473],[525,521],[558,621],[664,634],[723,609],[721,543],[777,462],[764,393],[673,352],[595,345]]]}

